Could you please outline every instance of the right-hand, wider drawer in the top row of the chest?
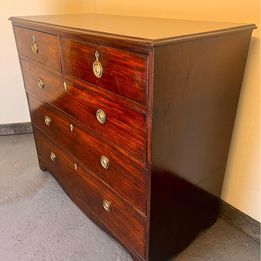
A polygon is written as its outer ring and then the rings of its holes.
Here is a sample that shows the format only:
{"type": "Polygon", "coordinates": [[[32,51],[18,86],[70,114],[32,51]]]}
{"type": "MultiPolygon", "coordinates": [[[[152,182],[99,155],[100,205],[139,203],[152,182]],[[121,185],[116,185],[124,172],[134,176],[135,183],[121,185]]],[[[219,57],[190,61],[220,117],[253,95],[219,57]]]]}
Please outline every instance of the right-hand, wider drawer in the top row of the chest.
{"type": "Polygon", "coordinates": [[[61,52],[66,75],[146,104],[145,55],[66,38],[61,39],[61,52]],[[97,71],[102,74],[95,76],[93,67],[100,68],[97,71]]]}

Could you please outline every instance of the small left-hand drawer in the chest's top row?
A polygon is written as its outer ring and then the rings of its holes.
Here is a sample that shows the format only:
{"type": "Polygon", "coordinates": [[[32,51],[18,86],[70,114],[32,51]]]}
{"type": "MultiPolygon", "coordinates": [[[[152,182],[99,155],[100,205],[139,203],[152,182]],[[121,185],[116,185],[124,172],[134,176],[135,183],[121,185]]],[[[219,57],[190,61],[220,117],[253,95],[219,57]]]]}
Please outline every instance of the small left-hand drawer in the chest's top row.
{"type": "Polygon", "coordinates": [[[20,57],[32,59],[55,71],[61,71],[57,36],[16,26],[14,33],[20,57]]]}

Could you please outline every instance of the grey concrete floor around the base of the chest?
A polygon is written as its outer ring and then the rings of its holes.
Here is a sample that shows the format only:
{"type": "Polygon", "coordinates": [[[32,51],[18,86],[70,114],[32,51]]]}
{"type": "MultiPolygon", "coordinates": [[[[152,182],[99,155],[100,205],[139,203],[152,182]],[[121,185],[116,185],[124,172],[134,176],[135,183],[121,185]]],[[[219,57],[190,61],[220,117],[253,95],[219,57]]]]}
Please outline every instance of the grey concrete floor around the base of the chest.
{"type": "MultiPolygon", "coordinates": [[[[48,172],[33,136],[0,136],[0,261],[129,261],[48,172]]],[[[175,261],[258,261],[258,244],[219,220],[175,261]]]]}

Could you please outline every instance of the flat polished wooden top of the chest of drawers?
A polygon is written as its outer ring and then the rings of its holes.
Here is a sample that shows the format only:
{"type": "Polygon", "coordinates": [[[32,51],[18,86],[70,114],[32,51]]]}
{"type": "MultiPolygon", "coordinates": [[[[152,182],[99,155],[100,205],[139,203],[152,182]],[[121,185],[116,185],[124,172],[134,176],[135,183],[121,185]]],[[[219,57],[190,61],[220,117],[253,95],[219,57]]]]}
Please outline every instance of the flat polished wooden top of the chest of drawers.
{"type": "Polygon", "coordinates": [[[134,17],[105,14],[66,14],[12,17],[12,21],[36,23],[77,30],[84,33],[100,33],[128,39],[146,41],[157,45],[181,38],[199,37],[234,30],[254,29],[254,24],[207,22],[166,18],[134,17]]]}

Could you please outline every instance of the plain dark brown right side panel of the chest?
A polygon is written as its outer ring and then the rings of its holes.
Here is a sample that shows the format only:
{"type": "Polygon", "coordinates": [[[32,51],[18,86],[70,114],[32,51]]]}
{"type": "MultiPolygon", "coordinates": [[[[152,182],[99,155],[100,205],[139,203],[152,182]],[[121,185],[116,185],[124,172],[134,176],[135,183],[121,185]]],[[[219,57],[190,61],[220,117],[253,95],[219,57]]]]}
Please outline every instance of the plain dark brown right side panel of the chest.
{"type": "Polygon", "coordinates": [[[216,221],[250,37],[245,31],[154,52],[153,261],[169,260],[216,221]]]}

